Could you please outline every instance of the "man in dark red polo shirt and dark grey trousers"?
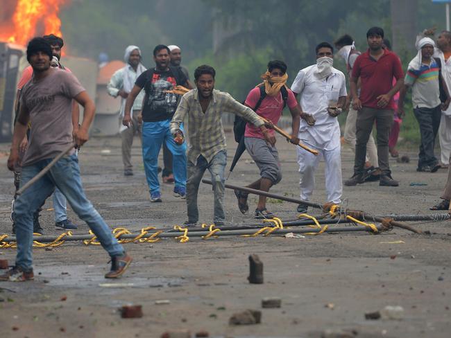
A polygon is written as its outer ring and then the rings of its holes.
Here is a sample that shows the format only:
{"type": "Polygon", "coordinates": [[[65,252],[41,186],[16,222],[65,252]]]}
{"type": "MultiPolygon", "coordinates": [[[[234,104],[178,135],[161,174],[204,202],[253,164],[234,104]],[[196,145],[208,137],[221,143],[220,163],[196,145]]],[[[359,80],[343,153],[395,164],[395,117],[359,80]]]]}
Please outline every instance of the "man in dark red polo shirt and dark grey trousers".
{"type": "Polygon", "coordinates": [[[391,177],[389,166],[389,136],[393,124],[395,102],[393,96],[404,84],[404,74],[398,55],[382,48],[384,30],[373,27],[366,33],[368,51],[355,60],[350,77],[352,107],[357,109],[354,175],[345,181],[346,186],[364,183],[366,143],[377,127],[377,157],[381,170],[380,186],[398,186],[391,177]],[[393,77],[397,80],[393,86],[393,77]],[[357,79],[361,79],[360,97],[357,96],[357,79]]]}

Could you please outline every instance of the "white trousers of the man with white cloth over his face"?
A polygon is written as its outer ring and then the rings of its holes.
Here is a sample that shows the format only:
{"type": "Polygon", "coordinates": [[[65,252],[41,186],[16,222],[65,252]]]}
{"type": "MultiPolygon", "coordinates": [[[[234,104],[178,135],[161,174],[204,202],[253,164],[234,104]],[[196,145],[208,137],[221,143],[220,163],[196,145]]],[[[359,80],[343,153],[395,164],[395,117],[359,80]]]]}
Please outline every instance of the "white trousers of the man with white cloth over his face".
{"type": "MultiPolygon", "coordinates": [[[[301,141],[302,142],[302,141],[301,141]]],[[[318,168],[319,160],[323,157],[325,161],[325,190],[327,202],[335,204],[341,203],[343,193],[343,183],[341,179],[341,147],[334,150],[317,149],[318,156],[298,147],[298,164],[300,172],[300,199],[309,201],[315,188],[315,171],[318,168]]]]}

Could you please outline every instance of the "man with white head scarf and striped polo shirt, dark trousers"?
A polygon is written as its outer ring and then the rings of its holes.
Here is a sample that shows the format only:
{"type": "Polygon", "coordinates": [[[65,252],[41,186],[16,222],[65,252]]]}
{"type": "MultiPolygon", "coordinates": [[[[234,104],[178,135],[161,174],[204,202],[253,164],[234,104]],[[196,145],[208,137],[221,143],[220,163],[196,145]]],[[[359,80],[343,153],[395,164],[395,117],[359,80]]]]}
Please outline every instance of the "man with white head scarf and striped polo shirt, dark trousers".
{"type": "Polygon", "coordinates": [[[434,155],[434,145],[439,131],[441,111],[449,105],[447,100],[443,105],[440,101],[439,81],[440,67],[432,55],[435,43],[429,37],[423,37],[418,42],[418,55],[414,57],[407,68],[405,85],[400,90],[400,116],[405,114],[404,100],[408,87],[412,88],[412,105],[414,114],[420,125],[421,144],[417,171],[436,172],[440,166],[434,155]]]}

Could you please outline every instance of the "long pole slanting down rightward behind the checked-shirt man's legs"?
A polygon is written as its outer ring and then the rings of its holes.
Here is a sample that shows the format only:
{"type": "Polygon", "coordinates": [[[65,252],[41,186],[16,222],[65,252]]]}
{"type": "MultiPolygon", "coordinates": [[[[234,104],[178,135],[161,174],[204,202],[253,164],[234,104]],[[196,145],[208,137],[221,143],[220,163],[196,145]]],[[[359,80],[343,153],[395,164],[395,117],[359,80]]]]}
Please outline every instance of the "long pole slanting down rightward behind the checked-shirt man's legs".
{"type": "MultiPolygon", "coordinates": [[[[203,179],[202,182],[205,184],[212,184],[212,181],[210,181],[210,179],[203,179]]],[[[287,201],[287,202],[292,202],[292,203],[297,203],[297,204],[305,204],[307,206],[312,206],[313,208],[323,209],[323,205],[318,204],[318,203],[312,203],[312,202],[308,202],[308,201],[303,201],[302,199],[276,195],[273,193],[266,193],[266,191],[262,191],[262,190],[256,190],[256,189],[247,188],[244,186],[235,186],[233,184],[225,184],[225,187],[228,189],[245,191],[246,193],[251,193],[251,194],[255,194],[255,195],[262,195],[262,196],[266,196],[266,197],[280,199],[281,201],[287,201]]],[[[375,222],[381,222],[384,224],[389,223],[389,224],[391,224],[391,226],[396,226],[398,228],[409,230],[414,233],[422,233],[420,230],[414,229],[407,224],[403,224],[403,223],[400,223],[400,222],[397,222],[397,221],[391,219],[391,217],[390,218],[377,217],[377,216],[370,215],[368,213],[364,213],[363,211],[354,211],[354,210],[350,210],[350,209],[346,209],[346,213],[348,213],[349,215],[353,214],[353,215],[355,215],[355,217],[362,217],[366,220],[375,220],[375,222]]]]}

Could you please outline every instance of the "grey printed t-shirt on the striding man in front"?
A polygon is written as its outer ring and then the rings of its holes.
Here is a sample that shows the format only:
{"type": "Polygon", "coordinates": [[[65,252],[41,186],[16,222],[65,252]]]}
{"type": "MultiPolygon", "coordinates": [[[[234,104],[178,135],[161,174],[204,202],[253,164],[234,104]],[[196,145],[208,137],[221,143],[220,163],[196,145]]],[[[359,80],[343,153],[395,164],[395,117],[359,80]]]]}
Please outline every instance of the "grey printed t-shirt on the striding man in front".
{"type": "Polygon", "coordinates": [[[22,88],[20,104],[30,113],[28,149],[22,166],[51,159],[73,143],[72,99],[85,91],[78,79],[62,69],[51,68],[41,80],[32,78],[22,88]]]}

